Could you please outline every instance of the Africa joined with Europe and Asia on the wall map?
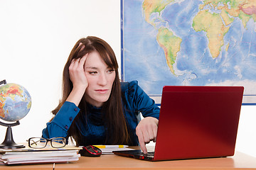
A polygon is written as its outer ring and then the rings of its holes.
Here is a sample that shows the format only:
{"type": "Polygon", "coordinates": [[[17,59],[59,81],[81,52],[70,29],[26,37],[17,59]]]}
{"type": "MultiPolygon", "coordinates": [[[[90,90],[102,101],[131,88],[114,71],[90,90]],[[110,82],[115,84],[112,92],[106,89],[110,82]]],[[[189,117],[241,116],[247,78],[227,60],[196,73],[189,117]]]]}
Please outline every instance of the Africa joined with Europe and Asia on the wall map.
{"type": "Polygon", "coordinates": [[[254,0],[223,1],[206,0],[200,6],[201,11],[193,18],[193,28],[196,31],[206,31],[208,47],[213,58],[218,57],[224,45],[223,37],[228,33],[234,17],[239,17],[245,27],[250,18],[256,21],[256,2],[254,0]],[[206,8],[206,9],[204,9],[206,8]],[[213,12],[217,9],[220,13],[213,12]]]}

